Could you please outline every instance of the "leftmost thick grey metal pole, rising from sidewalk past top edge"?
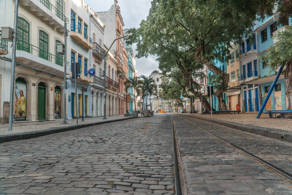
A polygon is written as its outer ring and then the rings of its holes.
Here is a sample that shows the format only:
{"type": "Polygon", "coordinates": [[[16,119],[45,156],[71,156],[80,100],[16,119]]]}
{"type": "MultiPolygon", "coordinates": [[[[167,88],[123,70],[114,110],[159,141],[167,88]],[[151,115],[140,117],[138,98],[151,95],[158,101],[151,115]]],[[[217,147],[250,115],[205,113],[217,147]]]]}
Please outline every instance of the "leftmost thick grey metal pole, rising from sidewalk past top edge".
{"type": "Polygon", "coordinates": [[[13,119],[13,99],[14,99],[14,79],[15,79],[15,52],[16,52],[16,36],[17,36],[17,18],[18,18],[18,2],[15,0],[14,8],[14,27],[13,27],[13,47],[12,47],[12,65],[11,65],[11,80],[10,80],[10,103],[9,103],[9,127],[8,131],[12,131],[13,119]]]}

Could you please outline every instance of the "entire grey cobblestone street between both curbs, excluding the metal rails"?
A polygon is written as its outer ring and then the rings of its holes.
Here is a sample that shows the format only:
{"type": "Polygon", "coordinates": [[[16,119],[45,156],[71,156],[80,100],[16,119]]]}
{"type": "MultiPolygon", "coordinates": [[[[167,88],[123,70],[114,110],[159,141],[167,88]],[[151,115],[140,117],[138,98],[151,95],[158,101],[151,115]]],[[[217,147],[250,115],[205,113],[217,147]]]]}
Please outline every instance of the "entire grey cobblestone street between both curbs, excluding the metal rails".
{"type": "Polygon", "coordinates": [[[2,143],[0,194],[175,194],[171,117],[184,194],[292,194],[291,181],[183,118],[290,174],[291,143],[169,114],[2,143]]]}

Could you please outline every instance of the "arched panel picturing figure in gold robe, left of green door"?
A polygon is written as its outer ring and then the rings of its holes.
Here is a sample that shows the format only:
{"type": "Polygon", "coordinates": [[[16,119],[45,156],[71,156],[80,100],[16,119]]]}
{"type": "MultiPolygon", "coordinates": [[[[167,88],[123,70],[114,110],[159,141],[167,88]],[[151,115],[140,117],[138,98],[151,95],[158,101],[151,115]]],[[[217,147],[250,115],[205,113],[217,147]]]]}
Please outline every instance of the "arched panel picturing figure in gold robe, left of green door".
{"type": "Polygon", "coordinates": [[[26,120],[26,81],[18,77],[15,80],[15,120],[26,120]]]}

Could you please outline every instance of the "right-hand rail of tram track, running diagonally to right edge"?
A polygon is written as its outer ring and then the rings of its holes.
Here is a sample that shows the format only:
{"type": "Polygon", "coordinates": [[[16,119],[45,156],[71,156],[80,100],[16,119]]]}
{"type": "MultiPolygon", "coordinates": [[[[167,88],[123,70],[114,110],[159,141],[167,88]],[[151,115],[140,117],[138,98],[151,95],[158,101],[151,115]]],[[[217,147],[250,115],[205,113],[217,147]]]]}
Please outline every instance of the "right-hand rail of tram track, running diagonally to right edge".
{"type": "Polygon", "coordinates": [[[226,139],[223,139],[221,137],[219,137],[218,135],[194,124],[193,122],[177,115],[179,118],[182,118],[183,120],[189,122],[190,124],[194,125],[195,127],[203,130],[205,133],[211,135],[212,137],[222,141],[223,143],[227,144],[228,146],[230,146],[231,148],[233,149],[236,149],[237,151],[241,151],[242,153],[244,153],[246,156],[248,156],[249,158],[251,158],[253,161],[256,161],[258,163],[260,163],[262,166],[264,166],[265,168],[269,169],[269,170],[272,170],[273,172],[275,173],[278,173],[279,176],[282,176],[282,177],[285,177],[287,180],[289,180],[291,183],[292,183],[292,174],[286,172],[285,170],[277,167],[276,165],[273,165],[272,163],[269,163],[268,161],[265,161],[264,159],[246,151],[245,149],[242,149],[241,147],[237,146],[236,144],[232,144],[230,141],[227,141],[226,139]]]}

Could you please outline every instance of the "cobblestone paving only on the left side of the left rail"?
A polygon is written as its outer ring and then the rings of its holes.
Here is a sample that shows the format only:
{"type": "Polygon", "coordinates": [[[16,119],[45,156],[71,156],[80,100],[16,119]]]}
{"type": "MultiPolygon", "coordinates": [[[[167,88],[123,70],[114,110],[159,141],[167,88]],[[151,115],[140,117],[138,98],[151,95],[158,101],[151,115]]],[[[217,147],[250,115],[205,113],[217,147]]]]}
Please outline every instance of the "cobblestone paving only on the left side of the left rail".
{"type": "Polygon", "coordinates": [[[138,118],[3,143],[0,191],[174,194],[170,123],[138,118]]]}

